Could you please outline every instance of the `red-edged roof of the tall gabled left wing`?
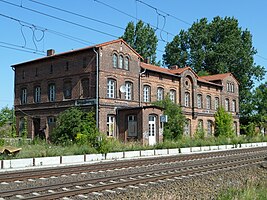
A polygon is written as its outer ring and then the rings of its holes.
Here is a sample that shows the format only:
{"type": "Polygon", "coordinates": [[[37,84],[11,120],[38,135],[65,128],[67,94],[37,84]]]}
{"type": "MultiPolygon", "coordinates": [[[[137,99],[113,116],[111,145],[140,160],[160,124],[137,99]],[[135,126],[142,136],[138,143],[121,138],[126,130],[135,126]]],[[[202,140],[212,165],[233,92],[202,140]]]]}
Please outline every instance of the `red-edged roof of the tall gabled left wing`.
{"type": "Polygon", "coordinates": [[[110,45],[110,44],[114,44],[114,43],[118,43],[118,42],[124,43],[139,58],[143,59],[143,57],[141,55],[139,55],[130,45],[128,45],[123,39],[120,38],[120,39],[117,39],[117,40],[112,40],[112,41],[104,42],[104,43],[101,43],[101,44],[96,44],[96,45],[93,45],[93,46],[88,46],[88,47],[84,47],[84,48],[80,48],[80,49],[76,49],[76,50],[71,50],[71,51],[67,51],[67,52],[63,52],[63,53],[54,54],[54,55],[51,55],[51,56],[45,56],[45,57],[42,57],[42,58],[37,58],[37,59],[34,59],[34,60],[30,60],[30,61],[26,61],[26,62],[23,62],[23,63],[12,65],[12,67],[17,67],[17,66],[28,64],[28,63],[32,63],[32,62],[37,62],[37,61],[42,61],[42,60],[51,59],[51,58],[55,58],[55,57],[60,57],[60,56],[64,56],[64,55],[68,55],[68,54],[72,54],[72,53],[76,53],[76,52],[80,52],[80,51],[86,51],[86,50],[93,49],[93,48],[100,48],[100,47],[104,47],[104,46],[107,46],[107,45],[110,45]]]}

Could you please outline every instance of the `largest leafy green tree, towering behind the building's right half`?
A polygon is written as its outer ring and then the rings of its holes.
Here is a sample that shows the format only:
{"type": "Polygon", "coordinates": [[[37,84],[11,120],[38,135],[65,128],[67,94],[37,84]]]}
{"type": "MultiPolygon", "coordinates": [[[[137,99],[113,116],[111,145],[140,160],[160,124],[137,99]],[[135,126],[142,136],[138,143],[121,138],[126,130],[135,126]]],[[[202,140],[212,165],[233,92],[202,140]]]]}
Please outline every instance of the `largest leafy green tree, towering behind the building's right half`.
{"type": "Polygon", "coordinates": [[[165,65],[191,66],[196,73],[209,74],[231,72],[239,81],[241,117],[251,114],[251,89],[254,81],[262,80],[264,67],[254,63],[257,53],[252,45],[252,35],[231,17],[215,17],[209,23],[206,18],[181,30],[165,47],[165,65]]]}

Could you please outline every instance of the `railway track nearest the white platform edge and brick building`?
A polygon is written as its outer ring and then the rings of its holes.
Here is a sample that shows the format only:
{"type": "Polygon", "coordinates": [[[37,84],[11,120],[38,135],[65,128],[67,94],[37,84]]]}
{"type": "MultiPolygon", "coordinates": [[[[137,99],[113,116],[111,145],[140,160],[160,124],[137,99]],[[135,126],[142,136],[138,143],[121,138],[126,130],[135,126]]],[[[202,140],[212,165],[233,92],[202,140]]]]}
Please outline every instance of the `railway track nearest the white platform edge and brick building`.
{"type": "Polygon", "coordinates": [[[11,181],[23,181],[27,179],[45,178],[51,176],[69,175],[73,173],[86,173],[86,172],[96,172],[100,170],[110,170],[110,169],[121,169],[135,166],[152,165],[160,163],[171,163],[177,161],[187,161],[205,158],[217,158],[224,157],[235,154],[243,154],[250,151],[257,151],[257,149],[267,149],[267,147],[253,148],[253,149],[242,149],[242,150],[231,150],[231,151],[220,151],[220,152],[209,152],[209,153],[198,153],[189,155],[176,155],[176,156],[166,156],[166,157],[156,157],[156,158],[142,158],[127,161],[107,161],[100,162],[96,164],[84,164],[79,166],[67,166],[67,167],[57,167],[57,168],[40,168],[35,170],[24,170],[15,172],[0,172],[0,183],[1,182],[11,182],[11,181]]]}

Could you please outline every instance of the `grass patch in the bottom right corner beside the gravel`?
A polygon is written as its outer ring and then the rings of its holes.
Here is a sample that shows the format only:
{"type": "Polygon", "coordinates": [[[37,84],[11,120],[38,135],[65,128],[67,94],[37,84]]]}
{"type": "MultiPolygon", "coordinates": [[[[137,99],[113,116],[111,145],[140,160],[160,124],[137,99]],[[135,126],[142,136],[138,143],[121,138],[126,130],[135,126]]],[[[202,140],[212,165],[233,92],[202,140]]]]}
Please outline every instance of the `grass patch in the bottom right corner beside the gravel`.
{"type": "Polygon", "coordinates": [[[266,200],[267,181],[264,183],[249,182],[244,188],[231,188],[222,192],[217,200],[266,200]]]}

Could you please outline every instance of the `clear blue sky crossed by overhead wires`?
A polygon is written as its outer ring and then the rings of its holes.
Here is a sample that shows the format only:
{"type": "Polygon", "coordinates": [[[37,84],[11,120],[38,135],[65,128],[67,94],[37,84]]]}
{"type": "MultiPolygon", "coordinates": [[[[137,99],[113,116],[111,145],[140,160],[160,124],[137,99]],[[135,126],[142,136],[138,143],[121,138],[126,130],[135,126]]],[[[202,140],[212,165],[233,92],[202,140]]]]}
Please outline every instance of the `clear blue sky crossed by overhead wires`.
{"type": "Polygon", "coordinates": [[[157,51],[157,59],[161,60],[166,41],[198,19],[235,17],[240,27],[253,35],[253,46],[258,50],[255,63],[266,68],[266,7],[267,2],[262,0],[0,0],[0,108],[13,106],[11,65],[43,57],[51,48],[60,53],[116,39],[136,18],[156,29],[162,40],[157,51]],[[69,36],[71,39],[67,39],[69,36]]]}

